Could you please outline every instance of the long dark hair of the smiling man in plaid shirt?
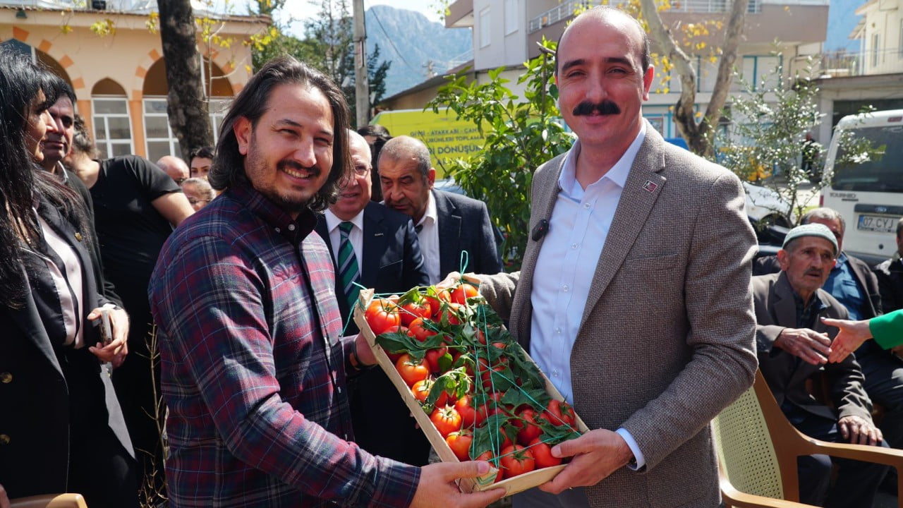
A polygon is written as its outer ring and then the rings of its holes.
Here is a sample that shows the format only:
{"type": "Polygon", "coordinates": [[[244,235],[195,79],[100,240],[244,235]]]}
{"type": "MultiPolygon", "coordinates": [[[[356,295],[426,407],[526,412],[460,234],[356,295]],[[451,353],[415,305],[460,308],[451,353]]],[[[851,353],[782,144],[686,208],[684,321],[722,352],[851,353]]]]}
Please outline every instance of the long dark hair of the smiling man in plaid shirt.
{"type": "Polygon", "coordinates": [[[238,152],[238,140],[233,127],[238,118],[247,118],[255,128],[257,121],[264,116],[267,102],[273,90],[286,83],[305,85],[319,89],[330,103],[332,110],[333,142],[332,169],[321,189],[315,193],[307,204],[312,212],[321,212],[335,202],[339,194],[339,183],[349,177],[351,157],[348,153],[349,112],[348,104],[341,89],[325,74],[291,56],[277,57],[258,71],[247,82],[238,97],[229,108],[226,118],[219,127],[219,143],[213,165],[207,175],[210,185],[221,191],[229,186],[247,184],[245,174],[245,155],[238,152]]]}

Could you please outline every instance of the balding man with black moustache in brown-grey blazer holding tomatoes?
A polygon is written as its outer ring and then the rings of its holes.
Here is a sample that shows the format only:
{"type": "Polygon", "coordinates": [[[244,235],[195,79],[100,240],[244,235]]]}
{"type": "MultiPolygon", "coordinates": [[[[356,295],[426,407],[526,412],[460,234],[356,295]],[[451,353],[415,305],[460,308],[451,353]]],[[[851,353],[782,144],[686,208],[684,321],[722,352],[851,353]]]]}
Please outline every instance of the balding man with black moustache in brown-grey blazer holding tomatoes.
{"type": "Polygon", "coordinates": [[[642,118],[647,55],[610,7],[567,28],[556,83],[578,141],[536,170],[521,271],[480,276],[591,428],[555,447],[573,460],[516,507],[720,502],[709,421],[756,371],[755,237],[738,178],[642,118]]]}

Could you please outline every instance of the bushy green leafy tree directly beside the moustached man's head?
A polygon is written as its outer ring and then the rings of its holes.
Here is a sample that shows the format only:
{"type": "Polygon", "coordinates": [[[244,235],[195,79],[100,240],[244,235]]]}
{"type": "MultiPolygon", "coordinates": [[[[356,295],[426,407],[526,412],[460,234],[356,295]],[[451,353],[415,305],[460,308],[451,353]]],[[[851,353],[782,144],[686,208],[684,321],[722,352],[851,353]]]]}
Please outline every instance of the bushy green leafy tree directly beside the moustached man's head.
{"type": "Polygon", "coordinates": [[[449,108],[458,118],[473,122],[484,138],[482,148],[444,168],[470,196],[486,202],[492,221],[503,231],[502,259],[510,269],[520,267],[529,235],[530,189],[536,167],[567,151],[573,136],[565,132],[555,106],[554,42],[526,62],[518,84],[526,83],[520,98],[499,77],[504,68],[489,71],[489,81],[468,82],[467,71],[449,76],[426,108],[438,113],[449,108]]]}

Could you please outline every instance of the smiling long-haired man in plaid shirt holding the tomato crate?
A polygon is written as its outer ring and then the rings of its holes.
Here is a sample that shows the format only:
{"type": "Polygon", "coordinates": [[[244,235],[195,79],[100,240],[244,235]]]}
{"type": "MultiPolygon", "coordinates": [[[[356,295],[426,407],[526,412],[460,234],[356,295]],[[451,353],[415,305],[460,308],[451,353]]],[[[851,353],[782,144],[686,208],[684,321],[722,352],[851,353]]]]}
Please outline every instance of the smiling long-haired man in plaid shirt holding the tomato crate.
{"type": "Polygon", "coordinates": [[[481,506],[453,480],[352,442],[345,373],[375,363],[340,337],[329,249],[313,232],[350,174],[348,106],[319,71],[269,62],[219,133],[224,192],[163,248],[149,290],[170,408],[170,505],[481,506]]]}

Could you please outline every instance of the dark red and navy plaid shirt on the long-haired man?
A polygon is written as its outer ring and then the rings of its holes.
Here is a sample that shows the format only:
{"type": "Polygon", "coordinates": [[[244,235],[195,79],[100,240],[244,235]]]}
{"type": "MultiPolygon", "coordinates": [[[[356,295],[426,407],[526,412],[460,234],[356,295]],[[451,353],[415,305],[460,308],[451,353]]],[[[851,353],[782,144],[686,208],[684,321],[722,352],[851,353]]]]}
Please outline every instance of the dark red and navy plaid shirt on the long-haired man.
{"type": "Polygon", "coordinates": [[[148,292],[173,507],[411,502],[418,468],[348,441],[353,337],[340,338],[332,261],[315,223],[238,187],[163,247],[148,292]]]}

